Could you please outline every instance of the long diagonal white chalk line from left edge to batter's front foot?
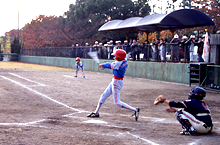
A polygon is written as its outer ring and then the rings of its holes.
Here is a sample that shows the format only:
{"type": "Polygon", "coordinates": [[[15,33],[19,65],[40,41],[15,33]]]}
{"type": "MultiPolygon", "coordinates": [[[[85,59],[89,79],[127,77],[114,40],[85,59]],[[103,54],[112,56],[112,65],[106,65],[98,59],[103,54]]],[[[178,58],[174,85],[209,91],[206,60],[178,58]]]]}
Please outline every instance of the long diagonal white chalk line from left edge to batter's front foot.
{"type": "Polygon", "coordinates": [[[48,97],[47,95],[44,95],[44,94],[42,94],[42,93],[40,93],[40,92],[38,92],[38,91],[35,91],[35,90],[33,90],[33,89],[31,89],[31,88],[29,88],[29,87],[27,87],[27,86],[25,86],[25,85],[23,85],[23,84],[17,82],[17,81],[14,81],[14,80],[9,79],[9,78],[4,77],[4,76],[1,76],[1,77],[4,78],[4,79],[6,79],[6,80],[9,80],[9,81],[11,81],[11,82],[13,82],[13,83],[15,83],[15,84],[17,84],[17,85],[19,85],[19,86],[22,86],[23,88],[26,88],[26,89],[28,89],[29,91],[34,92],[34,93],[38,94],[38,95],[41,96],[41,97],[47,98],[47,99],[49,99],[50,101],[53,101],[54,103],[57,103],[57,104],[59,104],[59,105],[62,105],[62,106],[64,106],[64,107],[67,107],[67,108],[69,108],[69,109],[71,109],[71,110],[74,110],[74,111],[84,112],[83,110],[79,110],[79,109],[70,107],[70,106],[68,106],[68,105],[66,105],[66,104],[64,104],[64,103],[61,103],[61,102],[59,102],[59,101],[57,101],[57,100],[54,100],[54,99],[48,97]]]}

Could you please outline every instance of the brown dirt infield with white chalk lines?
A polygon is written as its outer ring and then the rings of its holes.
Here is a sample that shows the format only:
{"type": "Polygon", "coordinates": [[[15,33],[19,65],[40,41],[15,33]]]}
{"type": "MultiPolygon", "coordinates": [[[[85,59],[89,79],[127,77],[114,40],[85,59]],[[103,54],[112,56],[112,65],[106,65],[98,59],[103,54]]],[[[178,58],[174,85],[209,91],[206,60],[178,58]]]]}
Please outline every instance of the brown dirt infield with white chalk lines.
{"type": "MultiPolygon", "coordinates": [[[[85,66],[86,67],[86,66],[85,66]]],[[[183,101],[190,87],[140,78],[125,77],[121,100],[140,107],[139,121],[132,112],[117,107],[112,97],[100,117],[86,115],[95,110],[112,75],[79,72],[19,62],[0,62],[0,144],[209,144],[220,142],[220,93],[207,90],[214,130],[207,135],[179,135],[181,126],[165,104],[153,105],[164,94],[183,101]]]]}

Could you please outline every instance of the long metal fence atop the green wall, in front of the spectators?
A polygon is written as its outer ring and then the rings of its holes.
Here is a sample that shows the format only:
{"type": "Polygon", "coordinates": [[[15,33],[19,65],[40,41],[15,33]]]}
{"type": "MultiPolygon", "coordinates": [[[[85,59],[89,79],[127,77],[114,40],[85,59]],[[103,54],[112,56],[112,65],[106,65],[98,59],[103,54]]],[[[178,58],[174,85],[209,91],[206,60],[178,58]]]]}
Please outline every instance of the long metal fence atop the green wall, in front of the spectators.
{"type": "MultiPolygon", "coordinates": [[[[138,45],[137,48],[129,47],[127,45],[112,45],[112,46],[78,46],[78,47],[49,47],[49,48],[33,48],[21,49],[20,55],[29,56],[49,56],[49,57],[70,57],[70,58],[89,58],[88,52],[97,51],[100,59],[113,59],[111,55],[116,49],[123,49],[130,53],[130,60],[142,61],[173,61],[173,62],[189,62],[189,50],[185,45],[178,47],[177,53],[173,60],[171,60],[171,50],[173,46],[179,46],[177,43],[166,43],[162,47],[155,47],[153,45],[138,45]],[[161,48],[161,49],[160,49],[161,48]]],[[[197,61],[197,47],[194,47],[193,61],[197,61]]]]}

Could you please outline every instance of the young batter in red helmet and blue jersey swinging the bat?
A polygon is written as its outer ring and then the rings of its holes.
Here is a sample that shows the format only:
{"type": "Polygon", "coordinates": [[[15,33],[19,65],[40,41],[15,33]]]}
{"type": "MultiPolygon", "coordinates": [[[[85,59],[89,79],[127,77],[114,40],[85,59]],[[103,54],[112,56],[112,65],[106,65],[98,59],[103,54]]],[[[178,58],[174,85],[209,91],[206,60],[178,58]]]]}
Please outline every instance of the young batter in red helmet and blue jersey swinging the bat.
{"type": "Polygon", "coordinates": [[[131,107],[128,104],[120,101],[120,90],[123,86],[123,78],[128,66],[128,62],[125,59],[126,52],[122,49],[117,49],[112,55],[115,56],[115,62],[99,64],[99,67],[101,69],[107,68],[113,70],[112,81],[101,95],[95,112],[92,112],[87,117],[99,117],[99,110],[101,106],[105,103],[105,100],[112,94],[114,103],[121,108],[133,111],[134,114],[132,116],[135,116],[135,120],[137,121],[140,108],[131,107]]]}

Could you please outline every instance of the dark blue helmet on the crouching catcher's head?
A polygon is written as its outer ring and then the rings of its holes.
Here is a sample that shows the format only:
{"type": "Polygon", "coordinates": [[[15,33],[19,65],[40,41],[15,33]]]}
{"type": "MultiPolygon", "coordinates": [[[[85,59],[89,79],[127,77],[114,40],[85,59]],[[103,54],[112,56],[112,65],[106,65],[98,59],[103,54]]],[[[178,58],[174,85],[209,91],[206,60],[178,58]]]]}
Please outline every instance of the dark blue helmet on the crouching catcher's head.
{"type": "Polygon", "coordinates": [[[203,88],[195,87],[190,90],[189,99],[203,100],[206,96],[206,91],[203,88]]]}

